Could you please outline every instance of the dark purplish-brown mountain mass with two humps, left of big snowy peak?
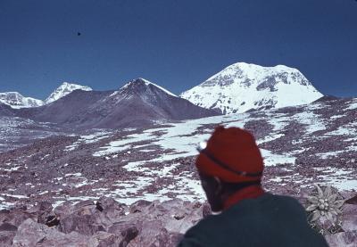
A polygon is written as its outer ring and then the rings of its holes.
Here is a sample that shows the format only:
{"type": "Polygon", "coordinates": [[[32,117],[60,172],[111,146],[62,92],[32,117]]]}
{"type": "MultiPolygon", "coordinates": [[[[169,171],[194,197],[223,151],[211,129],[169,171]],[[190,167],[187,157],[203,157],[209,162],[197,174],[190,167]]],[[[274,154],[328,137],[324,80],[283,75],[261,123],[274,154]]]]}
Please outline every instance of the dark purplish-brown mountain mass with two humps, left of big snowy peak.
{"type": "Polygon", "coordinates": [[[39,107],[9,109],[6,114],[66,128],[142,127],[158,121],[198,119],[218,115],[196,106],[154,83],[137,78],[118,91],[74,90],[39,107]]]}

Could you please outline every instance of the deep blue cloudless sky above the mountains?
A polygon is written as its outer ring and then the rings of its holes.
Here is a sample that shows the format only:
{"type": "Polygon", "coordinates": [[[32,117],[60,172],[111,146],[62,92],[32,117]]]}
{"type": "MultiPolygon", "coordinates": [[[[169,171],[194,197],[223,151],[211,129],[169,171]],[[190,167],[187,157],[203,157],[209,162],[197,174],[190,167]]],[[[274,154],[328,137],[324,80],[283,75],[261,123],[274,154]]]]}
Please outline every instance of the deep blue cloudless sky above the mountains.
{"type": "Polygon", "coordinates": [[[43,99],[62,81],[142,77],[179,94],[253,62],[357,96],[356,25],[354,0],[1,0],[0,92],[43,99]]]}

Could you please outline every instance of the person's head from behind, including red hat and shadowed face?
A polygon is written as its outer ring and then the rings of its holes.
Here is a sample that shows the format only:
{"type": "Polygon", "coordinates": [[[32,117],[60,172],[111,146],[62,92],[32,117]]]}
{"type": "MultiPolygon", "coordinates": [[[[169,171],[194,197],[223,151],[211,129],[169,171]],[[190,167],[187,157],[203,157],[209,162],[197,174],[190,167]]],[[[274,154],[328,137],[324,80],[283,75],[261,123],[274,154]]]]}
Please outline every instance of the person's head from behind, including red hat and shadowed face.
{"type": "Polygon", "coordinates": [[[212,210],[220,211],[230,194],[249,185],[260,185],[263,162],[248,131],[218,127],[200,150],[196,167],[212,210]]]}

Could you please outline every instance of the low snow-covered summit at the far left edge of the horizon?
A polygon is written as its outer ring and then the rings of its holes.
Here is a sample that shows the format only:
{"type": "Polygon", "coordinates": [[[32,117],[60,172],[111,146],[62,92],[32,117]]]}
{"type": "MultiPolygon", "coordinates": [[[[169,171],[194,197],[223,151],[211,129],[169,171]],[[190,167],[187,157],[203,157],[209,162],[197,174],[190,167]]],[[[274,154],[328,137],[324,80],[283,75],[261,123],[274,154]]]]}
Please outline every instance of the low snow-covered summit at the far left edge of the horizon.
{"type": "Polygon", "coordinates": [[[14,109],[37,107],[44,104],[41,100],[25,97],[18,92],[0,93],[0,102],[14,109]]]}

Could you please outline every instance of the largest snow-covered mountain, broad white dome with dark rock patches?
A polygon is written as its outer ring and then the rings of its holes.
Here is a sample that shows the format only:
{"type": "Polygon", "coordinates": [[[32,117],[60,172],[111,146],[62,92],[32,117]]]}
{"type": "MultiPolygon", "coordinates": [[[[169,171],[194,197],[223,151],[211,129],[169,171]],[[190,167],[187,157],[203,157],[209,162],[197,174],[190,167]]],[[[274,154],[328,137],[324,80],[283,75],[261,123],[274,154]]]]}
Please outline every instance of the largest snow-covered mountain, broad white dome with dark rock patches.
{"type": "Polygon", "coordinates": [[[311,103],[323,95],[294,68],[237,62],[180,96],[229,114],[311,103]]]}

